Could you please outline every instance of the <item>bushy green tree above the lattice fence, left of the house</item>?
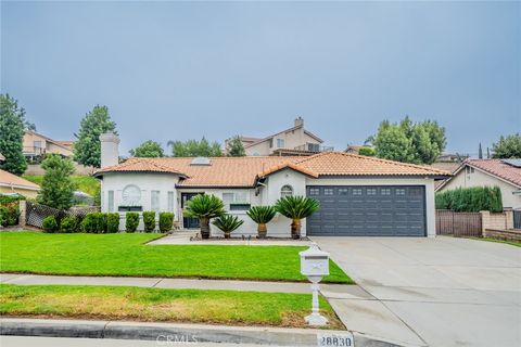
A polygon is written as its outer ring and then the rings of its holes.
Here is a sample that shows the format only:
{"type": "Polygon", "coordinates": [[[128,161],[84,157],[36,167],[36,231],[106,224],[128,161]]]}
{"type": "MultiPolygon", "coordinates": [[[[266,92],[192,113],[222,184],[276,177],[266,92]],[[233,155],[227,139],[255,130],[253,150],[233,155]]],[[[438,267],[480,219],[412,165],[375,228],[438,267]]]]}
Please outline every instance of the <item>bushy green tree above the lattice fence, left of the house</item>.
{"type": "Polygon", "coordinates": [[[59,209],[71,208],[76,190],[76,184],[71,179],[74,174],[73,162],[58,154],[50,154],[41,163],[41,167],[46,175],[37,196],[38,203],[59,209]]]}

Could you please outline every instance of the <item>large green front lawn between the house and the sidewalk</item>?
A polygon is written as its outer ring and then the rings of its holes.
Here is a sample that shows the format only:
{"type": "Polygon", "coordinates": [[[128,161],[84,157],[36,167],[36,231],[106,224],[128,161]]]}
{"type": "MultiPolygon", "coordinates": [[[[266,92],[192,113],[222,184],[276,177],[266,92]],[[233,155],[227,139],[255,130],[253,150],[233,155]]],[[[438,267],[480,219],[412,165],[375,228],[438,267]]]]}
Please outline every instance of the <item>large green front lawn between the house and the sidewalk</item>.
{"type": "MultiPolygon", "coordinates": [[[[0,233],[0,271],[306,281],[302,246],[144,245],[160,234],[0,233]]],[[[323,282],[353,283],[333,262],[323,282]]]]}

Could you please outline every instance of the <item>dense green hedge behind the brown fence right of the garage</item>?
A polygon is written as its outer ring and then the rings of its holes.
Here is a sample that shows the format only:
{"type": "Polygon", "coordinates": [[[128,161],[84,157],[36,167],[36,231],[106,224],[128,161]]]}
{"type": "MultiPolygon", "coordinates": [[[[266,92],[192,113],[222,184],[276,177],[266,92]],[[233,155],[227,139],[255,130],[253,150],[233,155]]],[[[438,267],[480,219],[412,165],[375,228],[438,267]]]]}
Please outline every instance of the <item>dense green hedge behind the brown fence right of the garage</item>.
{"type": "Polygon", "coordinates": [[[436,209],[450,209],[458,213],[503,211],[499,187],[457,188],[439,192],[435,202],[436,209]]]}

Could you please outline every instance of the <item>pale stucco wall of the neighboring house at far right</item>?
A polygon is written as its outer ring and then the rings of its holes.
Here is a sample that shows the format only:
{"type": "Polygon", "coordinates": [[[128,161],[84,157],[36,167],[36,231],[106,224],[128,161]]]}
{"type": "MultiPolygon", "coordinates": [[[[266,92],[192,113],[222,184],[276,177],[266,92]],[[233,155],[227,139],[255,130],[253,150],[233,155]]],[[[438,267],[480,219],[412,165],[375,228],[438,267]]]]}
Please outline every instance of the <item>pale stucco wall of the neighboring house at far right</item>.
{"type": "Polygon", "coordinates": [[[509,184],[500,179],[497,179],[488,174],[485,174],[479,169],[474,169],[474,172],[467,174],[466,168],[458,172],[452,180],[449,180],[442,189],[441,192],[452,190],[456,188],[469,188],[469,187],[494,187],[497,185],[501,190],[503,207],[504,208],[521,208],[521,195],[513,195],[512,193],[519,191],[512,184],[509,184]]]}

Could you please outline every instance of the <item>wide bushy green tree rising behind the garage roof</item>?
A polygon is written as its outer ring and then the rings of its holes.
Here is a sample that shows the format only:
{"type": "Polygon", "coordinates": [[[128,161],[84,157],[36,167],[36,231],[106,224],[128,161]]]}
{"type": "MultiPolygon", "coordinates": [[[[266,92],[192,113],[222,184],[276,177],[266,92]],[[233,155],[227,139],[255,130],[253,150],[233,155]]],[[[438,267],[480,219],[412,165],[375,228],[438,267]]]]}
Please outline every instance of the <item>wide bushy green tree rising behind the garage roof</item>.
{"type": "Polygon", "coordinates": [[[377,156],[415,164],[434,163],[445,150],[445,128],[436,121],[412,123],[405,117],[399,124],[383,120],[373,140],[377,156]]]}

